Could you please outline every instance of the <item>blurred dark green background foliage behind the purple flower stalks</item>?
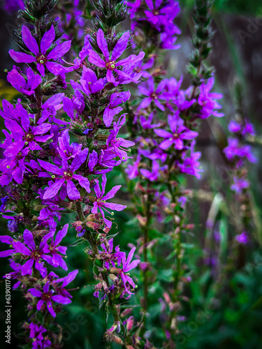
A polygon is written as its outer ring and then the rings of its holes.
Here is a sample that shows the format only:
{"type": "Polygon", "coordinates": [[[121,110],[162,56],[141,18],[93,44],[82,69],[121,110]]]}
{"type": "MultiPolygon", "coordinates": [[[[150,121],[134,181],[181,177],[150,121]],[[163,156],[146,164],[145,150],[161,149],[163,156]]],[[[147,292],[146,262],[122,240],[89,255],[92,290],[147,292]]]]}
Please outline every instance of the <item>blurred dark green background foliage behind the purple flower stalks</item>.
{"type": "MultiPolygon", "coordinates": [[[[180,17],[180,28],[182,36],[179,41],[181,49],[168,52],[163,57],[169,75],[179,77],[184,74],[187,57],[190,54],[191,35],[191,8],[193,0],[180,1],[182,13],[180,17]]],[[[180,334],[177,336],[177,348],[185,349],[259,349],[262,348],[262,168],[261,162],[251,165],[249,168],[249,179],[252,184],[252,211],[254,216],[254,232],[252,242],[244,247],[241,255],[244,265],[236,266],[234,255],[235,223],[238,223],[238,211],[235,208],[234,196],[230,191],[231,178],[228,174],[228,166],[221,155],[221,148],[225,146],[228,135],[227,124],[235,114],[233,96],[233,82],[238,79],[245,91],[245,107],[249,119],[255,125],[257,138],[252,143],[257,158],[261,158],[262,144],[262,26],[247,37],[245,43],[239,35],[239,31],[246,31],[250,20],[254,22],[256,16],[262,15],[262,4],[260,0],[230,1],[217,0],[213,6],[213,27],[216,34],[213,38],[214,50],[212,63],[217,71],[216,91],[224,94],[222,101],[226,117],[224,119],[210,118],[203,122],[202,131],[198,140],[198,150],[203,153],[202,164],[205,172],[200,181],[188,178],[188,186],[192,189],[191,199],[187,207],[189,223],[194,223],[194,232],[184,237],[184,267],[187,274],[191,276],[192,282],[187,284],[183,291],[184,307],[180,316],[180,334]],[[211,120],[212,119],[212,120],[211,120]],[[233,213],[235,211],[235,216],[233,213]],[[212,242],[212,233],[206,228],[207,218],[212,218],[214,226],[221,232],[219,243],[212,242]],[[212,245],[212,246],[211,246],[212,245]],[[211,257],[215,262],[207,262],[204,253],[207,247],[211,248],[211,257]]],[[[3,68],[11,68],[12,61],[8,59],[6,52],[13,46],[6,24],[9,28],[15,25],[15,17],[0,13],[1,43],[4,54],[0,57],[2,70],[0,72],[0,94],[1,98],[9,101],[15,96],[15,91],[8,86],[6,73],[3,68]]],[[[2,122],[2,121],[1,121],[2,122]]],[[[1,125],[3,126],[3,125],[1,125]]],[[[122,169],[116,168],[115,172],[108,176],[108,188],[122,184],[122,193],[118,198],[124,202],[129,201],[126,184],[122,177],[122,169]]],[[[6,188],[2,189],[6,192],[6,188]]],[[[121,202],[122,203],[122,202],[121,202]]],[[[136,244],[140,236],[138,221],[133,218],[131,204],[129,208],[115,214],[114,232],[119,232],[115,237],[117,244],[122,248],[136,244]]],[[[61,225],[66,223],[62,219],[61,225]]],[[[168,225],[166,225],[168,226],[168,225]]],[[[0,221],[1,233],[7,232],[6,221],[0,221]]],[[[164,249],[166,235],[161,232],[163,227],[150,230],[150,238],[158,237],[158,244],[164,249]]],[[[66,245],[75,242],[73,229],[65,239],[66,245]]],[[[4,248],[5,246],[1,246],[4,248]]],[[[57,322],[64,327],[64,348],[73,349],[102,349],[107,345],[103,342],[103,333],[106,329],[105,314],[103,308],[99,311],[99,302],[95,299],[93,289],[86,287],[92,283],[92,263],[83,251],[85,246],[69,247],[68,265],[70,270],[79,269],[78,277],[71,288],[79,288],[73,291],[73,303],[66,306],[65,313],[59,315],[57,322]]],[[[153,254],[150,256],[155,265],[164,265],[165,255],[153,254]]],[[[8,262],[1,260],[1,274],[8,272],[8,262]]],[[[64,275],[61,269],[60,275],[64,275]]],[[[140,290],[139,269],[133,274],[138,279],[138,290],[140,290]]],[[[157,278],[163,283],[168,283],[168,273],[159,269],[157,278]]],[[[0,283],[0,304],[4,299],[4,283],[0,283]]],[[[163,290],[159,284],[150,289],[149,297],[154,299],[154,304],[149,312],[152,315],[148,336],[154,332],[159,343],[164,333],[159,332],[161,327],[161,303],[155,302],[162,297],[163,290]],[[156,333],[156,331],[158,331],[156,333]]],[[[21,314],[24,313],[26,302],[20,297],[19,291],[12,292],[12,332],[13,348],[19,348],[23,343],[19,334],[21,314]]],[[[131,299],[131,304],[136,304],[136,299],[131,299]]],[[[0,321],[3,323],[5,314],[3,306],[0,309],[0,321]]],[[[134,315],[139,318],[139,313],[134,308],[134,315]]],[[[1,333],[1,336],[3,334],[1,333]]],[[[1,339],[3,348],[8,344],[1,339]]],[[[158,342],[155,343],[159,348],[158,342]]],[[[119,348],[116,344],[112,348],[119,348]]]]}

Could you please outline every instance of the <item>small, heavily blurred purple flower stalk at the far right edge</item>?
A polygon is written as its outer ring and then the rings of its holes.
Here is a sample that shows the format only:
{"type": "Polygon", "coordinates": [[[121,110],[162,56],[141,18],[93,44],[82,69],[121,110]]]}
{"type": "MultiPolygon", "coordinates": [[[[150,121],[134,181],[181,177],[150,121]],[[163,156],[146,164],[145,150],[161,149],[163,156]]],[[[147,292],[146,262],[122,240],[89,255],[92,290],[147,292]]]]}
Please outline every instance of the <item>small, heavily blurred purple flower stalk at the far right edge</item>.
{"type": "Polygon", "coordinates": [[[257,161],[250,143],[254,139],[256,131],[245,114],[240,82],[235,83],[235,96],[237,110],[235,119],[231,119],[228,124],[230,135],[228,136],[228,145],[224,148],[224,155],[229,163],[228,173],[233,179],[230,188],[233,191],[235,202],[232,216],[237,232],[235,240],[238,245],[238,258],[236,260],[237,267],[242,267],[245,262],[244,246],[251,241],[250,232],[254,230],[248,165],[257,161]]]}

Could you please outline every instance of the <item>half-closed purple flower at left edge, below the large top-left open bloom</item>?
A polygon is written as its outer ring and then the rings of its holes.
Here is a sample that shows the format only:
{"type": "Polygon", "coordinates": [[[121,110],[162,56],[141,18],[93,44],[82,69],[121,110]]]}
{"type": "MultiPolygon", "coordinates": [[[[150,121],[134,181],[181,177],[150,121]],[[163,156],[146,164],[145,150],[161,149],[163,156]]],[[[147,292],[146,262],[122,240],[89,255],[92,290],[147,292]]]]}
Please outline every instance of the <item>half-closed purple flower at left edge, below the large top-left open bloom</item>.
{"type": "Polygon", "coordinates": [[[13,70],[11,70],[7,75],[7,81],[20,91],[21,94],[26,94],[27,96],[31,96],[35,94],[35,89],[42,82],[42,78],[40,75],[35,74],[32,68],[27,68],[27,80],[25,80],[19,68],[13,66],[13,70]]]}

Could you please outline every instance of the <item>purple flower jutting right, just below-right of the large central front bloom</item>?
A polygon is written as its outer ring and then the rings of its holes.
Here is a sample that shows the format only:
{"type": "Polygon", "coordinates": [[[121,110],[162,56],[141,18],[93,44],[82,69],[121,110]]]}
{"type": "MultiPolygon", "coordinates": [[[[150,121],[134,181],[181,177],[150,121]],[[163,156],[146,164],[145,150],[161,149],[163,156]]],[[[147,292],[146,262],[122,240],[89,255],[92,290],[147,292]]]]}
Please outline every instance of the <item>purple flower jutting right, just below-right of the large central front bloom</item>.
{"type": "Polygon", "coordinates": [[[92,214],[97,214],[98,210],[101,212],[103,216],[103,221],[105,222],[105,225],[108,226],[108,228],[111,228],[112,222],[108,221],[108,219],[105,218],[104,211],[108,212],[111,216],[113,216],[113,212],[108,211],[105,208],[112,209],[115,211],[122,211],[126,208],[124,205],[119,204],[113,204],[112,202],[106,202],[108,199],[114,198],[115,194],[121,186],[114,186],[106,195],[105,195],[105,185],[106,185],[106,176],[105,174],[102,174],[102,191],[99,186],[99,181],[95,179],[96,185],[94,186],[94,191],[96,193],[96,201],[94,202],[94,207],[92,207],[92,214]]]}

